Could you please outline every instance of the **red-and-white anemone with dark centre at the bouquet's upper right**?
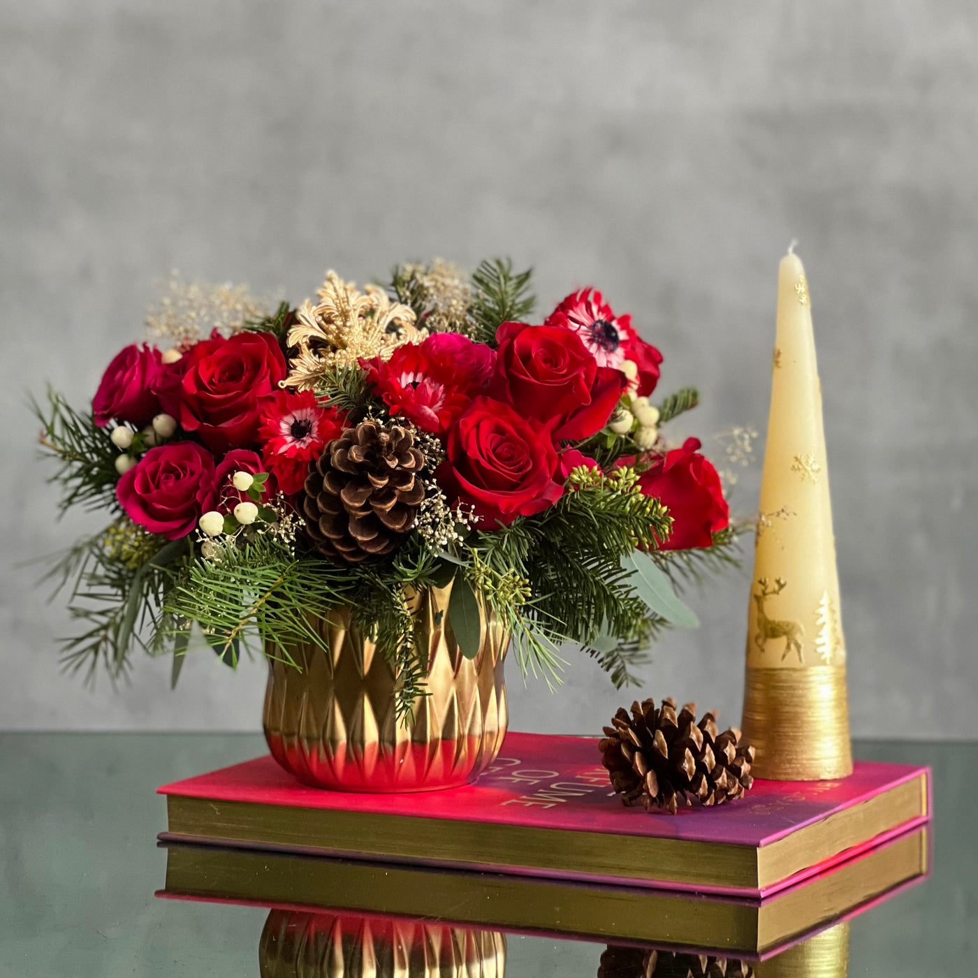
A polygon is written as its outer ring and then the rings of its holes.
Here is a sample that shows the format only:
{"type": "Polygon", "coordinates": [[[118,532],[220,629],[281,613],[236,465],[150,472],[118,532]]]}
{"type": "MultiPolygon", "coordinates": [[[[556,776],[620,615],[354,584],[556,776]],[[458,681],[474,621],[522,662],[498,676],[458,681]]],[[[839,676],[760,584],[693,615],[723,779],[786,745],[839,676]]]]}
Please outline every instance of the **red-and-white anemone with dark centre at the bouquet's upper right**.
{"type": "Polygon", "coordinates": [[[662,354],[635,332],[631,316],[616,316],[597,289],[572,292],[547,317],[547,325],[577,333],[601,367],[621,370],[624,361],[634,361],[638,393],[647,397],[655,389],[662,354]]]}

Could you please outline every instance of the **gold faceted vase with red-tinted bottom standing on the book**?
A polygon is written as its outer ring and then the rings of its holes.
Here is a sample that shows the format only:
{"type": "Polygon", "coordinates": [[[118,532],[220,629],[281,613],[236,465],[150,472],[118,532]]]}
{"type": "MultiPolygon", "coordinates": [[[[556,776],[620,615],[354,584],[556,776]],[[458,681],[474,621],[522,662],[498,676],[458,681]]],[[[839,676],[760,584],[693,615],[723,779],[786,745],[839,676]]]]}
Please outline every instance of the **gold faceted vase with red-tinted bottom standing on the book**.
{"type": "Polygon", "coordinates": [[[413,723],[397,719],[383,636],[368,639],[348,607],[317,625],[329,653],[291,647],[296,668],[270,650],[262,721],[283,768],[316,787],[428,791],[465,784],[495,760],[508,722],[510,636],[480,602],[481,644],[467,659],[452,631],[450,593],[451,584],[429,588],[409,605],[427,654],[428,695],[415,701],[413,723]]]}

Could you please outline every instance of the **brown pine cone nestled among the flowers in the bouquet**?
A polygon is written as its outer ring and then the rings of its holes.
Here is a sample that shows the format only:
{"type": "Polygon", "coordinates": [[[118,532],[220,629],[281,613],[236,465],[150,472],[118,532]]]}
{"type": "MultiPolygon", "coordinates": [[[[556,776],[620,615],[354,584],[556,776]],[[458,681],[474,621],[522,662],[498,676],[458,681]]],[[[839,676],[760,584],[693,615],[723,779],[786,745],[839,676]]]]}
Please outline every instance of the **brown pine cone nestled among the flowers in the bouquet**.
{"type": "Polygon", "coordinates": [[[305,482],[312,545],[337,563],[390,554],[411,532],[424,499],[424,456],[396,424],[361,422],[326,447],[305,482]]]}

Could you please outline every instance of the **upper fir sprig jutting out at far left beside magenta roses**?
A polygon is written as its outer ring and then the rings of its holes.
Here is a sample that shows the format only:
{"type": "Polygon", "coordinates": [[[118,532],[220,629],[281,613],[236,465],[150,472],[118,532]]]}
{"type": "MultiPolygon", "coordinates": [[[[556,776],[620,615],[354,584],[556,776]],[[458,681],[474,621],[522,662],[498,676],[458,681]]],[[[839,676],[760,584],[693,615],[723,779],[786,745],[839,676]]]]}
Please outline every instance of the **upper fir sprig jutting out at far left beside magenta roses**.
{"type": "Polygon", "coordinates": [[[73,506],[86,510],[115,510],[115,459],[119,452],[111,443],[108,428],[99,427],[91,414],[80,414],[61,394],[48,388],[48,405],[42,408],[33,398],[30,407],[41,422],[40,443],[59,466],[48,477],[62,487],[60,511],[73,506]]]}

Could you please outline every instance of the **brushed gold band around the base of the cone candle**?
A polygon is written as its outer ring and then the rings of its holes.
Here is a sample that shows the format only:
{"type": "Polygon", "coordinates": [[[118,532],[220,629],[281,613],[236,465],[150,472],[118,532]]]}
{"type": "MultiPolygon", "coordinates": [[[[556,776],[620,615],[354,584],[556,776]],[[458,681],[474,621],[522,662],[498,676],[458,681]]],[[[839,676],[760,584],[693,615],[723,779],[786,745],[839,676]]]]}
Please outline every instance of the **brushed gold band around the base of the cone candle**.
{"type": "Polygon", "coordinates": [[[743,736],[755,778],[817,781],[853,772],[844,666],[747,667],[743,736]]]}

